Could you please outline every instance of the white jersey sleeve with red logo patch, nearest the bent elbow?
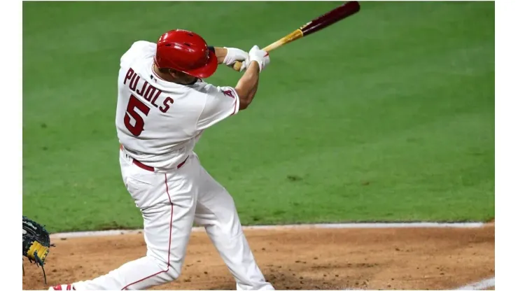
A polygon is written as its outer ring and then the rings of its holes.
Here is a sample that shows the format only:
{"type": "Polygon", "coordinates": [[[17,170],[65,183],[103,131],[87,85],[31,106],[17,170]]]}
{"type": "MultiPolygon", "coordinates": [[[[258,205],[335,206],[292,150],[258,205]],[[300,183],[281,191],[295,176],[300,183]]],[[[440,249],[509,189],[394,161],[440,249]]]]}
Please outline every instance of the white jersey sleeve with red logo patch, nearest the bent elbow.
{"type": "Polygon", "coordinates": [[[206,98],[205,106],[197,121],[199,130],[206,129],[239,111],[239,97],[232,87],[210,86],[206,98]]]}

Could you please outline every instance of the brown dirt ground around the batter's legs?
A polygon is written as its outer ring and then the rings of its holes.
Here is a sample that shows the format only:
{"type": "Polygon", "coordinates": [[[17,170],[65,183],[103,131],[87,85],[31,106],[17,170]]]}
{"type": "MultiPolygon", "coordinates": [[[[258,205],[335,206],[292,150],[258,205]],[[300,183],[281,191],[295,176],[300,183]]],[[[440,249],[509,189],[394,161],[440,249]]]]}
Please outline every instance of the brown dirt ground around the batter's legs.
{"type": "MultiPolygon", "coordinates": [[[[494,225],[481,228],[248,230],[268,281],[279,290],[443,290],[494,276],[494,225]]],[[[105,274],[146,254],[144,236],[57,239],[48,285],[105,274]]],[[[47,289],[24,261],[24,290],[47,289]],[[30,278],[30,280],[29,280],[30,278]]],[[[235,290],[207,234],[191,236],[183,274],[155,290],[235,290]]]]}

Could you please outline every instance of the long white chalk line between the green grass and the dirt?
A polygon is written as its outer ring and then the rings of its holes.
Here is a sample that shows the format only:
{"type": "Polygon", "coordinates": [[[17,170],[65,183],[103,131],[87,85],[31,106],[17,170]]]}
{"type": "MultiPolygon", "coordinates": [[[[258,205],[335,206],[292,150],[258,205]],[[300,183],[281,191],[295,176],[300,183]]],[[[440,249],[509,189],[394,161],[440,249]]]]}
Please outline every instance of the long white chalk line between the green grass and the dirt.
{"type": "MultiPolygon", "coordinates": [[[[382,229],[382,228],[476,228],[483,227],[484,222],[391,222],[391,223],[323,223],[312,225],[253,225],[243,227],[244,230],[286,230],[286,229],[382,229]]],[[[203,227],[193,227],[193,232],[204,232],[203,227]]],[[[142,229],[115,229],[115,230],[99,230],[94,232],[62,232],[51,234],[52,239],[66,239],[73,237],[89,237],[89,236],[116,236],[120,234],[140,234],[142,229]]]]}

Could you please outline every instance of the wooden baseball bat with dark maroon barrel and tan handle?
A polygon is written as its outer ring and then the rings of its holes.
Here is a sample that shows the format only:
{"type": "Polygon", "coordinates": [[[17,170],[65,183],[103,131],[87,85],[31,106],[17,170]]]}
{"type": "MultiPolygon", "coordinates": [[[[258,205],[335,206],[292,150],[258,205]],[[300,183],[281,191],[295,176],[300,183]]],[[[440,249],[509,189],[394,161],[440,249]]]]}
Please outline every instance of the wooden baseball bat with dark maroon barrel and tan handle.
{"type": "MultiPolygon", "coordinates": [[[[358,1],[349,1],[343,3],[341,6],[338,6],[337,8],[330,10],[328,13],[320,15],[316,17],[314,20],[307,22],[307,24],[304,24],[302,27],[296,29],[287,36],[284,36],[283,38],[279,39],[279,41],[276,41],[268,45],[266,48],[263,48],[262,50],[270,52],[276,48],[279,48],[281,45],[285,45],[286,43],[290,43],[304,36],[309,36],[309,34],[313,34],[316,31],[324,29],[325,27],[328,27],[331,24],[338,22],[339,20],[342,20],[346,17],[349,17],[357,13],[359,10],[360,3],[358,3],[358,1]]],[[[241,69],[241,65],[242,62],[235,62],[233,69],[239,71],[241,69]]]]}

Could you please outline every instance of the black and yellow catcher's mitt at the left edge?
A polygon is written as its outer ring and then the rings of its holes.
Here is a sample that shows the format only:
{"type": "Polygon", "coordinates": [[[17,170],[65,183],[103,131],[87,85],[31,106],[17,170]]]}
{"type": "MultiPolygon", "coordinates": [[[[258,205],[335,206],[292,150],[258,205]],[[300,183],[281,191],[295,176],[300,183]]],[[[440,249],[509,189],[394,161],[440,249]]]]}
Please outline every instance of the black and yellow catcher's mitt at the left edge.
{"type": "Polygon", "coordinates": [[[43,225],[38,222],[23,216],[22,218],[22,255],[29,259],[29,262],[34,262],[36,265],[41,266],[43,270],[43,278],[45,278],[45,284],[47,284],[47,276],[45,276],[45,258],[48,255],[50,246],[50,236],[43,225]]]}

